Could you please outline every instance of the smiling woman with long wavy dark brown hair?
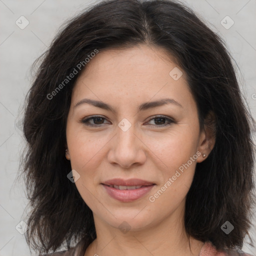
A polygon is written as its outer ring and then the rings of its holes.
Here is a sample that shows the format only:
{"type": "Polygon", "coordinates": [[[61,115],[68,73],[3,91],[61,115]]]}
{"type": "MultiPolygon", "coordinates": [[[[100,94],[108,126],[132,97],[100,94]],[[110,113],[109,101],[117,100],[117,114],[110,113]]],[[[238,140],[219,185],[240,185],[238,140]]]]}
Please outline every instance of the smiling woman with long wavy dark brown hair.
{"type": "Polygon", "coordinates": [[[192,10],[99,2],[58,33],[25,110],[25,235],[40,254],[248,255],[253,120],[192,10]]]}

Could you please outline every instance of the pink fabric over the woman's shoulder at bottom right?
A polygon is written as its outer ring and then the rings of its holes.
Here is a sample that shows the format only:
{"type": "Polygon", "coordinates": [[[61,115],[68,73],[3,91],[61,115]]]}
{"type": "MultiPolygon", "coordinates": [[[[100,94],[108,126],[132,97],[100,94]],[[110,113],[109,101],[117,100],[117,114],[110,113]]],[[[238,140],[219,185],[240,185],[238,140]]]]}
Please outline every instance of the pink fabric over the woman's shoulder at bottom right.
{"type": "Polygon", "coordinates": [[[253,256],[253,255],[245,253],[242,250],[235,250],[235,249],[216,250],[215,246],[210,241],[207,241],[202,246],[199,256],[253,256]]]}

